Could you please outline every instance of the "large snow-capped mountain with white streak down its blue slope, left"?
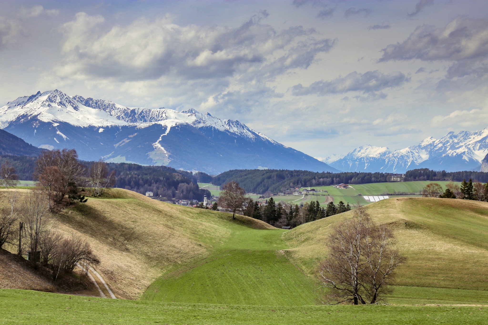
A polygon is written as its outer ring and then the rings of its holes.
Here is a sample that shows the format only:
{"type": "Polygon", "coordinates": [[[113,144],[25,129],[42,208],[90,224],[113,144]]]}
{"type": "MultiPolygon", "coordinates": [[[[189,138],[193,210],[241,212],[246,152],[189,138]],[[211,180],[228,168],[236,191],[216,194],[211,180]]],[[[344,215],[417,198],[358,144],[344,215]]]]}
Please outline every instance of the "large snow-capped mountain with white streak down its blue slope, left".
{"type": "Polygon", "coordinates": [[[193,109],[126,107],[59,90],[8,102],[0,108],[0,129],[37,147],[75,148],[84,160],[103,158],[212,174],[255,168],[336,171],[239,121],[193,109]]]}

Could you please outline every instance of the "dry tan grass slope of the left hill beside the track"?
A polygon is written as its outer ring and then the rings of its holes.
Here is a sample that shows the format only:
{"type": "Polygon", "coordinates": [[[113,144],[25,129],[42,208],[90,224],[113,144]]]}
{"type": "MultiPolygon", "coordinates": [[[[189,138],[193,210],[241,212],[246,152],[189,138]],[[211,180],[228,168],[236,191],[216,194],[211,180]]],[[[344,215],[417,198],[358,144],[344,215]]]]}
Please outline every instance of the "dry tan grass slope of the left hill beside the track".
{"type": "MultiPolygon", "coordinates": [[[[24,190],[27,191],[27,190],[24,190]]],[[[0,205],[5,205],[5,198],[0,205]]],[[[89,198],[57,215],[57,228],[88,240],[102,263],[97,268],[122,298],[137,299],[159,276],[208,256],[228,240],[229,225],[271,226],[224,212],[182,207],[122,189],[89,198]]]]}

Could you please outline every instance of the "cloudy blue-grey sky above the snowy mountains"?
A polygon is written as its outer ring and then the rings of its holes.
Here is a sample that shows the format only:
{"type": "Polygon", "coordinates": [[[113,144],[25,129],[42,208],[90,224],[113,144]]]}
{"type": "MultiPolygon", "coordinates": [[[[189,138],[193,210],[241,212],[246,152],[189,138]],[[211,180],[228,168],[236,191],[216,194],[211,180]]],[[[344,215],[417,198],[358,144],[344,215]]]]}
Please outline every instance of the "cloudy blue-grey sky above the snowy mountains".
{"type": "Polygon", "coordinates": [[[488,126],[488,1],[0,1],[37,91],[239,120],[314,157],[488,126]]]}

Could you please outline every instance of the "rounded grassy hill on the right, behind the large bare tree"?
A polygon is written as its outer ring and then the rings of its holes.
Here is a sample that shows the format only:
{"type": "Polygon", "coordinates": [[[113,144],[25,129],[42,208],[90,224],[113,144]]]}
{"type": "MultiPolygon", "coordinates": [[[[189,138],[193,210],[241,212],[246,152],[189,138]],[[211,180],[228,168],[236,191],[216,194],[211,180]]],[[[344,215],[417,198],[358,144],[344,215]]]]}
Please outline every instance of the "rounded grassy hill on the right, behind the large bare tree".
{"type": "MultiPolygon", "coordinates": [[[[368,212],[377,222],[394,227],[397,245],[408,258],[398,268],[397,285],[418,287],[398,287],[395,297],[420,299],[430,292],[442,300],[443,290],[437,288],[451,289],[444,290],[445,297],[466,295],[470,289],[480,301],[488,302],[487,202],[392,198],[370,204],[368,212]]],[[[332,227],[351,216],[352,211],[286,232],[283,238],[292,247],[286,255],[307,274],[314,274],[327,254],[324,244],[332,227]]]]}

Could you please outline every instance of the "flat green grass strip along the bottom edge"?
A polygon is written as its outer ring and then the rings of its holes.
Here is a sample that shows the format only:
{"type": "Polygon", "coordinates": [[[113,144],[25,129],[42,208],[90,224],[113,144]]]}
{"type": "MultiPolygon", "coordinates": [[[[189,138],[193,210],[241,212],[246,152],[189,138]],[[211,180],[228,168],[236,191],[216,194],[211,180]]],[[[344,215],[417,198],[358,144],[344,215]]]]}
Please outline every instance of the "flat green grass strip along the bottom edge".
{"type": "Polygon", "coordinates": [[[0,324],[487,324],[485,306],[245,306],[103,299],[0,289],[0,324]]]}

